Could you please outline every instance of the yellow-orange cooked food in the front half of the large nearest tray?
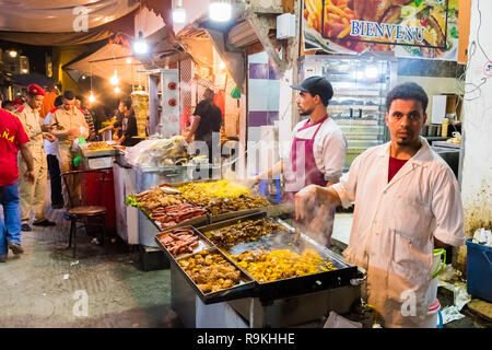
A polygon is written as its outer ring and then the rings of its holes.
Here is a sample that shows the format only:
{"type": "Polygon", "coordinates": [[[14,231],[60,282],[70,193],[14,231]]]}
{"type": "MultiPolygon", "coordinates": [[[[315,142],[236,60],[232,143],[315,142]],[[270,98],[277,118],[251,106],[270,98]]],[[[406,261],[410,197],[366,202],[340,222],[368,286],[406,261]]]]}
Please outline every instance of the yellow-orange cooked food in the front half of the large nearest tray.
{"type": "Polygon", "coordinates": [[[232,255],[231,258],[258,282],[271,282],[337,269],[332,262],[326,261],[316,250],[309,248],[301,255],[288,249],[267,252],[260,248],[232,255]]]}

